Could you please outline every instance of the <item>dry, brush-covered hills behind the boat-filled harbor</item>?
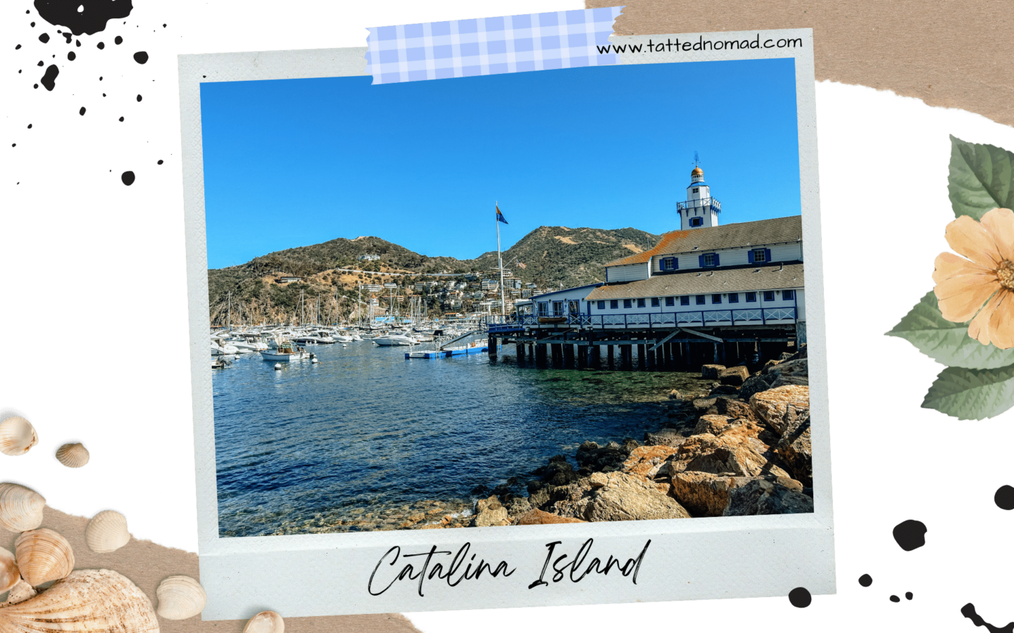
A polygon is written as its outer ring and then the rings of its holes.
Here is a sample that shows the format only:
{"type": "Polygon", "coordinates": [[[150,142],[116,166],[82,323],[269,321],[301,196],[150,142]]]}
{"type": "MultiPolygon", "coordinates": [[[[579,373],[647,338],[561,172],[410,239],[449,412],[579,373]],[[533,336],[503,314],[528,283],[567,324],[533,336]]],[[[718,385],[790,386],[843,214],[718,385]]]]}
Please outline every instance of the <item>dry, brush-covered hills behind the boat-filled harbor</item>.
{"type": "MultiPolygon", "coordinates": [[[[602,264],[651,248],[658,239],[638,229],[539,227],[505,251],[503,261],[523,283],[542,289],[569,288],[604,281],[602,264]]],[[[233,323],[309,320],[319,298],[319,320],[333,321],[354,311],[359,284],[404,286],[439,279],[424,275],[440,272],[474,271],[496,278],[496,251],[475,259],[455,259],[421,255],[378,237],[337,238],[208,270],[209,316],[213,323],[224,323],[226,314],[233,323]],[[377,255],[378,259],[360,260],[361,255],[377,255]],[[280,284],[283,274],[303,279],[280,284]]],[[[426,299],[431,314],[439,311],[434,297],[426,299]]]]}

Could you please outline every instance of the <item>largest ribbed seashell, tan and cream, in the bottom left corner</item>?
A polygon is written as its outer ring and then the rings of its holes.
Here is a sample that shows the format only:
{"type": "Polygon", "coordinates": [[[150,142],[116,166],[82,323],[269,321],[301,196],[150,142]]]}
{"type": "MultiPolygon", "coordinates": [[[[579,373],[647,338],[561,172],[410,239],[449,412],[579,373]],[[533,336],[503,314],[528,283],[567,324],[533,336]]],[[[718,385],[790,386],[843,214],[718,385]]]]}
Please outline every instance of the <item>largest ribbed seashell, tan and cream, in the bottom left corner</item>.
{"type": "Polygon", "coordinates": [[[78,569],[39,596],[0,609],[4,633],[158,633],[151,601],[110,569],[78,569]]]}

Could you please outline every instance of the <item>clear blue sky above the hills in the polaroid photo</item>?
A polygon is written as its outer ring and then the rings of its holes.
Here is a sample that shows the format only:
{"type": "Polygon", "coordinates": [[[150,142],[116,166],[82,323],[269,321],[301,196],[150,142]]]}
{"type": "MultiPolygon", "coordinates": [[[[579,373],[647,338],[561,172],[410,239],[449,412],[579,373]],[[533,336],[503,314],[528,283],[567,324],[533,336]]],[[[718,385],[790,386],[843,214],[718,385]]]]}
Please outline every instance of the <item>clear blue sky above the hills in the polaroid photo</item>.
{"type": "Polygon", "coordinates": [[[798,215],[794,61],[606,66],[371,85],[201,86],[208,265],[374,235],[424,255],[539,226],[678,228],[694,152],[720,223],[798,215]]]}

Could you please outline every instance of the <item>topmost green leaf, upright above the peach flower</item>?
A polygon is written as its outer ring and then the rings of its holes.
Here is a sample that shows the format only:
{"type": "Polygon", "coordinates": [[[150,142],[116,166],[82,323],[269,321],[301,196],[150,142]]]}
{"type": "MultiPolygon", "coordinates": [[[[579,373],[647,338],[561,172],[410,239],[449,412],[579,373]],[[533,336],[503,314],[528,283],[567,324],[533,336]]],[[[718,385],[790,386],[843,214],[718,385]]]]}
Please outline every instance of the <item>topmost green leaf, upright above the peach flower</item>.
{"type": "Polygon", "coordinates": [[[954,217],[981,220],[991,209],[1014,209],[1014,152],[954,135],[948,138],[947,199],[954,217]]]}

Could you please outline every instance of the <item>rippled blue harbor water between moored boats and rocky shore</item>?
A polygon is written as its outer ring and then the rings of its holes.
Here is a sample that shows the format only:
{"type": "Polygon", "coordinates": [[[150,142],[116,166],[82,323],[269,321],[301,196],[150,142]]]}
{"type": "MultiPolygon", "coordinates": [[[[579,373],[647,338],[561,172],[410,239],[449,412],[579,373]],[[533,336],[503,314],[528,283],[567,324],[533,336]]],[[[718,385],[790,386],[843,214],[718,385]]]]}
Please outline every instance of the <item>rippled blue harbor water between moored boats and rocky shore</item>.
{"type": "Polygon", "coordinates": [[[370,341],[307,349],[319,364],[276,371],[255,353],[212,372],[221,536],[467,513],[489,495],[477,486],[515,477],[523,493],[551,456],[574,463],[586,440],[641,441],[670,389],[710,384],[697,373],[519,366],[513,345],[498,359],[406,360],[407,347],[370,341]]]}

